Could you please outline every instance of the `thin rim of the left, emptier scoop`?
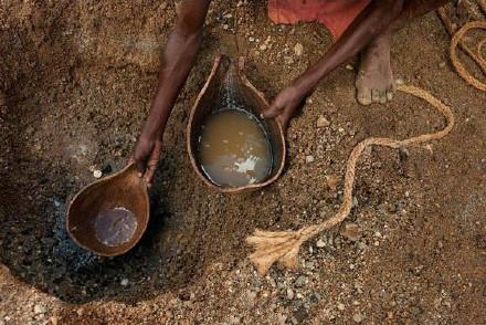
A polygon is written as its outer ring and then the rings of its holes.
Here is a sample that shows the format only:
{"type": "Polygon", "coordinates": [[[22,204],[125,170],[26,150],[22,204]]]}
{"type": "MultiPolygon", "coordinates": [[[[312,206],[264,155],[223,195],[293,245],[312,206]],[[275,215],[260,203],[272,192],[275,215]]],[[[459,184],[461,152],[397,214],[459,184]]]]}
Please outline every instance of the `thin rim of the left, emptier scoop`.
{"type": "MultiPolygon", "coordinates": [[[[68,203],[68,207],[67,207],[67,212],[66,212],[66,220],[65,220],[66,231],[67,231],[67,233],[70,234],[71,239],[72,239],[72,240],[73,240],[73,241],[74,241],[80,248],[83,248],[83,249],[85,249],[85,250],[87,250],[87,251],[89,251],[89,252],[93,252],[93,253],[95,253],[96,255],[101,255],[101,256],[106,256],[106,258],[118,256],[118,255],[125,254],[126,252],[128,252],[129,250],[131,250],[131,249],[133,249],[133,248],[134,248],[134,247],[140,241],[140,239],[144,237],[144,233],[145,233],[145,231],[147,230],[147,226],[148,226],[148,222],[149,222],[149,220],[150,220],[150,201],[149,201],[149,197],[148,197],[148,190],[147,190],[147,187],[145,187],[145,190],[142,191],[142,192],[144,192],[144,199],[145,199],[145,202],[146,202],[146,208],[147,208],[147,218],[145,218],[146,221],[145,221],[141,226],[139,226],[139,227],[141,227],[141,231],[140,231],[139,235],[138,235],[137,238],[135,238],[135,239],[133,240],[133,243],[129,244],[127,248],[125,248],[125,249],[123,249],[123,250],[119,250],[119,251],[116,251],[116,252],[113,252],[113,253],[99,252],[99,251],[97,251],[97,250],[94,250],[94,249],[92,249],[92,248],[89,248],[89,247],[87,247],[87,245],[81,243],[81,242],[77,240],[77,238],[71,232],[71,228],[70,228],[71,208],[72,208],[74,201],[80,197],[81,193],[83,193],[86,189],[88,189],[88,188],[91,188],[91,187],[93,187],[93,186],[96,186],[96,185],[98,185],[98,184],[101,184],[101,182],[104,182],[104,181],[107,181],[107,180],[109,180],[109,179],[113,179],[113,178],[119,176],[120,174],[123,174],[123,172],[125,172],[125,171],[127,171],[128,169],[134,168],[134,167],[135,167],[135,162],[130,162],[130,164],[128,164],[127,166],[125,166],[122,170],[119,170],[119,171],[117,171],[117,172],[115,172],[115,174],[113,174],[113,175],[109,175],[109,176],[107,176],[107,177],[103,177],[103,178],[101,178],[101,179],[97,179],[97,180],[95,180],[95,181],[93,181],[93,182],[91,182],[91,184],[84,186],[84,187],[83,187],[80,191],[77,191],[77,193],[76,193],[76,195],[70,200],[70,203],[68,203]]],[[[145,180],[142,179],[141,181],[145,181],[145,180]]]]}

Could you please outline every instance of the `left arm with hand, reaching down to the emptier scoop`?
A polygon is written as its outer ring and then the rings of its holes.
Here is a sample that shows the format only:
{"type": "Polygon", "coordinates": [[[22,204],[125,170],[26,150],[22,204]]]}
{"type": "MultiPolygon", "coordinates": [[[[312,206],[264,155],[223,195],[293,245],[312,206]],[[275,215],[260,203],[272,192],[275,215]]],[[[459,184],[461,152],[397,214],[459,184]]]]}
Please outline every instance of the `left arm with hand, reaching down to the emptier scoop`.
{"type": "Polygon", "coordinates": [[[211,0],[181,0],[178,20],[162,54],[157,93],[135,146],[133,161],[150,185],[157,167],[163,129],[179,92],[194,64],[202,42],[211,0]]]}

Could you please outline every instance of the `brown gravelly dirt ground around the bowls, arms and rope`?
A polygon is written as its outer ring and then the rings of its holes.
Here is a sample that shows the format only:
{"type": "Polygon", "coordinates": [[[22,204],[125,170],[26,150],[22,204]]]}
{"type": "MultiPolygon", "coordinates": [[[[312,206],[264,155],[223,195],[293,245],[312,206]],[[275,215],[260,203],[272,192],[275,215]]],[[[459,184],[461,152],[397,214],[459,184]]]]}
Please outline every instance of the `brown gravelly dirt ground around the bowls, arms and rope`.
{"type": "Polygon", "coordinates": [[[349,62],[293,120],[276,184],[211,191],[184,132],[213,57],[247,56],[249,78],[271,98],[330,45],[318,24],[272,24],[264,1],[212,4],[165,135],[142,242],[115,259],[77,249],[65,202],[93,169],[107,175],[129,157],[173,21],[163,0],[0,1],[0,324],[486,323],[486,94],[454,72],[435,13],[394,36],[392,65],[450,105],[456,127],[424,146],[367,151],[350,217],[303,248],[300,270],[258,276],[244,238],[332,216],[342,181],[332,189],[326,176],[344,175],[359,140],[444,122],[404,94],[359,106],[349,62]],[[317,127],[320,116],[330,124],[317,127]]]}

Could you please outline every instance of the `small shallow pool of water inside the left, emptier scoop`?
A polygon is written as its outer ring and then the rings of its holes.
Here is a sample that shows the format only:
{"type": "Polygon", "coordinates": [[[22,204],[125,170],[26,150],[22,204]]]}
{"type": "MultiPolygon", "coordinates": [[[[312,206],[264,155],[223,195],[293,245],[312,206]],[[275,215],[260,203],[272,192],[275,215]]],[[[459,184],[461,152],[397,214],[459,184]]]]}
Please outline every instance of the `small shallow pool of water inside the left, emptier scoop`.
{"type": "Polygon", "coordinates": [[[123,207],[101,212],[94,222],[97,240],[110,248],[130,241],[138,226],[135,214],[123,207]]]}

